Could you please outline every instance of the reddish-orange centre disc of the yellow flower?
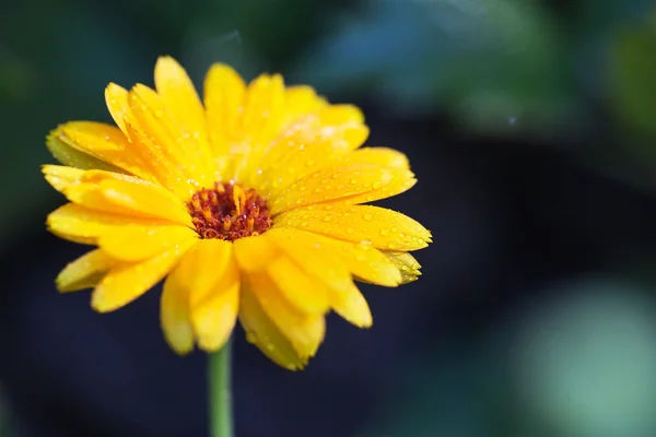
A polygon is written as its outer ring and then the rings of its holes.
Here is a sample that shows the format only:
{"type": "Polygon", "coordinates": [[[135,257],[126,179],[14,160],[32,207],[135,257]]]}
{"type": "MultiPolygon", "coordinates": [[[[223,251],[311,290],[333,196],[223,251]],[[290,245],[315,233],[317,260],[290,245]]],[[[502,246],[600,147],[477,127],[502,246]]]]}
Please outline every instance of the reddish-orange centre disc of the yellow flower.
{"type": "Polygon", "coordinates": [[[265,199],[255,190],[244,190],[233,182],[203,188],[191,197],[187,208],[201,238],[234,241],[260,235],[272,223],[265,199]]]}

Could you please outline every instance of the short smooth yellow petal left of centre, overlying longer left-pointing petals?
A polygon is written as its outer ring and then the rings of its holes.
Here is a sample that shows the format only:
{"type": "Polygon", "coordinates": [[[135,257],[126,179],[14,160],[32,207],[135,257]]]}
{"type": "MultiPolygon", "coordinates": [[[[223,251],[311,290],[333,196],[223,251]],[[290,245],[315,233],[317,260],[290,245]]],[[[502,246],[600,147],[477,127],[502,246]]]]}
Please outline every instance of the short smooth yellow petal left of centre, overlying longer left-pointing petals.
{"type": "Polygon", "coordinates": [[[141,261],[198,238],[185,226],[138,226],[130,224],[103,234],[98,246],[121,261],[141,261]]]}

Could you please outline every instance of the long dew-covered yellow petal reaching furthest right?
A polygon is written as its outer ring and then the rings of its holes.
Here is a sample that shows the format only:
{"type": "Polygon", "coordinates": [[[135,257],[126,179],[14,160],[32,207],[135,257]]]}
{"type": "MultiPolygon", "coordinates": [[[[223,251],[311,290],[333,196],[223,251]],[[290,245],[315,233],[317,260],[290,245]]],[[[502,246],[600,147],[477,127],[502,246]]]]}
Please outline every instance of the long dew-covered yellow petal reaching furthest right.
{"type": "Polygon", "coordinates": [[[431,233],[399,212],[371,205],[321,204],[288,211],[277,226],[296,227],[378,249],[408,251],[426,247],[431,233]]]}

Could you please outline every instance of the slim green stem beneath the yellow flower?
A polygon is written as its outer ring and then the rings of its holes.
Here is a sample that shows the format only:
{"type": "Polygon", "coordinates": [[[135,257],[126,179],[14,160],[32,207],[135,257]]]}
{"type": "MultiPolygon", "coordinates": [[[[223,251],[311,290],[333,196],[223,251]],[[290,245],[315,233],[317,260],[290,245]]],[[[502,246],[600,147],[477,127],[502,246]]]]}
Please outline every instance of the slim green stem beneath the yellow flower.
{"type": "Polygon", "coordinates": [[[231,394],[230,340],[209,355],[211,437],[234,437],[231,394]]]}

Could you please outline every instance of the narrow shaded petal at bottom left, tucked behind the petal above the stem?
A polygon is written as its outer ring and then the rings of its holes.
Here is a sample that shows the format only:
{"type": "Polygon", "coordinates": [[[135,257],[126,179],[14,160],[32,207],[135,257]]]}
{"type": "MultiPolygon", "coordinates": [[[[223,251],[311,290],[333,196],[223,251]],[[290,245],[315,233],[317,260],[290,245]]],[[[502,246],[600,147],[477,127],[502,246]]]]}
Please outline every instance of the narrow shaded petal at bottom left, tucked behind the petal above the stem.
{"type": "Polygon", "coordinates": [[[194,327],[189,317],[189,295],[175,273],[166,277],[160,299],[160,324],[164,339],[178,355],[194,350],[194,327]]]}

